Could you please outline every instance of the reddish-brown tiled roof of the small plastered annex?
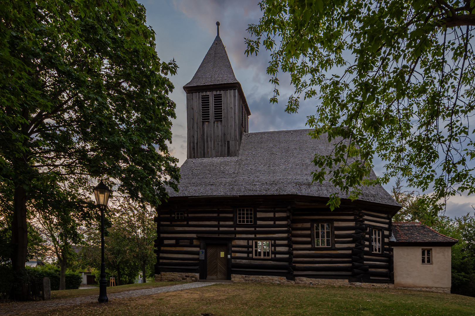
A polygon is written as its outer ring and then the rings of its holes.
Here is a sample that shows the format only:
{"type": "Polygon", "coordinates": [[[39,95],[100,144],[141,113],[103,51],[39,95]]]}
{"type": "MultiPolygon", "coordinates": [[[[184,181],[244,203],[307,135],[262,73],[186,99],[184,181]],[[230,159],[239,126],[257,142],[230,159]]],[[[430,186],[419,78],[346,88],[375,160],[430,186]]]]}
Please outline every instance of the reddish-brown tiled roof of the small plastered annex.
{"type": "Polygon", "coordinates": [[[396,238],[392,246],[452,246],[458,242],[420,222],[394,222],[392,233],[396,238]]]}

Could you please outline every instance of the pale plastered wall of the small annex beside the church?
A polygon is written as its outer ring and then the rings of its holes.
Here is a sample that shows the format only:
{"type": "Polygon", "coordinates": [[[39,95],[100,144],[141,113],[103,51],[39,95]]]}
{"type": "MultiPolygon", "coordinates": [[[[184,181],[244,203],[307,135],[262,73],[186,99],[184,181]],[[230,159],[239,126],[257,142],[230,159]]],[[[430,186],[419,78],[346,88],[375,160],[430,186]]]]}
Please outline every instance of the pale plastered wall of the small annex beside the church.
{"type": "Polygon", "coordinates": [[[450,288],[451,247],[394,247],[394,286],[450,288]],[[421,250],[432,249],[432,264],[422,264],[421,250]]]}

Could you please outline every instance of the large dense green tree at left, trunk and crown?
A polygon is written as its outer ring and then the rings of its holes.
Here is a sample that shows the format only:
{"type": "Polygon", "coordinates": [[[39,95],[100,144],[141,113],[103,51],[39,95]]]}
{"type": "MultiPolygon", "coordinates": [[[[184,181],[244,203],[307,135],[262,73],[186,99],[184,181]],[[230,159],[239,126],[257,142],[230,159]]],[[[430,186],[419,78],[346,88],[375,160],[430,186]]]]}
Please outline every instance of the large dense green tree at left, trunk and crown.
{"type": "Polygon", "coordinates": [[[177,189],[165,77],[177,65],[160,62],[135,0],[2,1],[0,19],[0,179],[14,191],[11,262],[21,271],[35,183],[103,178],[153,206],[164,184],[177,189]]]}

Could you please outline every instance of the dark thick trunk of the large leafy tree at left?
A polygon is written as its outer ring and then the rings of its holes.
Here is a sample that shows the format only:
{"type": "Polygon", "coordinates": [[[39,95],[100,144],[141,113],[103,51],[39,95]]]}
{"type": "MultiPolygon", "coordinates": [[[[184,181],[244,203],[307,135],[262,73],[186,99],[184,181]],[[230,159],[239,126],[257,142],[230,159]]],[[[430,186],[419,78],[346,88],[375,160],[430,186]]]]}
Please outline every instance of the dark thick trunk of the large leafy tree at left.
{"type": "Polygon", "coordinates": [[[20,272],[25,269],[28,250],[27,191],[21,185],[15,188],[13,198],[11,242],[14,245],[11,255],[13,270],[20,272]]]}

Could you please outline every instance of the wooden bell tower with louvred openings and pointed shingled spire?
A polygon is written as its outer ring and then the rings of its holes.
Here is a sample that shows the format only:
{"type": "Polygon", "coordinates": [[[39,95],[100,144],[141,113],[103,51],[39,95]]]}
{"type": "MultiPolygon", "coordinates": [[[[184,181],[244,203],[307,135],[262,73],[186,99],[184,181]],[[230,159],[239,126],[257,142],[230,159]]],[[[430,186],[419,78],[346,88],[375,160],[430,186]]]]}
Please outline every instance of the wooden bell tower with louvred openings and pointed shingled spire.
{"type": "Polygon", "coordinates": [[[186,92],[187,158],[237,156],[249,128],[249,107],[234,75],[226,49],[217,36],[186,92]]]}

